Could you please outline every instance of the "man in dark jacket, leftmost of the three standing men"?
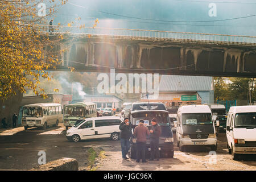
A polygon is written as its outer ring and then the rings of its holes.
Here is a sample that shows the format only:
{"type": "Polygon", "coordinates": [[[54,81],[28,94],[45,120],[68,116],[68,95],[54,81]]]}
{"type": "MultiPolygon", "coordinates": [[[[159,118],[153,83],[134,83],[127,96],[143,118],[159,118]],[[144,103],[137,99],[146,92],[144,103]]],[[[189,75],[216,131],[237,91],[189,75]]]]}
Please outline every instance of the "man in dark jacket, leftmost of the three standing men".
{"type": "Polygon", "coordinates": [[[120,133],[120,140],[121,140],[121,148],[122,148],[122,158],[127,158],[127,153],[130,150],[130,138],[131,138],[131,123],[129,122],[129,118],[125,118],[123,122],[119,125],[119,129],[121,130],[120,133]]]}

